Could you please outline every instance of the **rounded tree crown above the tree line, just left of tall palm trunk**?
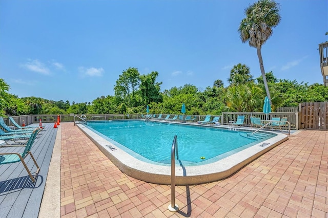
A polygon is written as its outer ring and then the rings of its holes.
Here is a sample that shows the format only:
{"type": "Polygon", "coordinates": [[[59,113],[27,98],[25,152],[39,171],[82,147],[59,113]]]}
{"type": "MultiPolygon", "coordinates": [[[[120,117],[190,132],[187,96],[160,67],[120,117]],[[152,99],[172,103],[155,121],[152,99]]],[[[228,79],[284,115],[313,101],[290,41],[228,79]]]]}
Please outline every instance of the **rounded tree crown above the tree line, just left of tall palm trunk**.
{"type": "Polygon", "coordinates": [[[230,85],[239,85],[253,81],[253,76],[250,73],[250,68],[248,66],[238,63],[231,69],[228,82],[230,85]]]}

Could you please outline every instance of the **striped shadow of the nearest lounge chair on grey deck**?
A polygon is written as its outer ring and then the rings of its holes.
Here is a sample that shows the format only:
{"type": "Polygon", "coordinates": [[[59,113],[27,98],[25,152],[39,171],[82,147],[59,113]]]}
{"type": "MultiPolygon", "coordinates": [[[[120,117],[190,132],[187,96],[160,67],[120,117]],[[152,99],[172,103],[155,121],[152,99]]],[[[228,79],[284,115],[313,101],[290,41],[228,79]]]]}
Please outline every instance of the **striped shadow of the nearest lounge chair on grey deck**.
{"type": "Polygon", "coordinates": [[[0,195],[19,191],[23,188],[38,188],[42,183],[43,176],[37,176],[35,183],[32,182],[29,176],[0,181],[0,195]]]}

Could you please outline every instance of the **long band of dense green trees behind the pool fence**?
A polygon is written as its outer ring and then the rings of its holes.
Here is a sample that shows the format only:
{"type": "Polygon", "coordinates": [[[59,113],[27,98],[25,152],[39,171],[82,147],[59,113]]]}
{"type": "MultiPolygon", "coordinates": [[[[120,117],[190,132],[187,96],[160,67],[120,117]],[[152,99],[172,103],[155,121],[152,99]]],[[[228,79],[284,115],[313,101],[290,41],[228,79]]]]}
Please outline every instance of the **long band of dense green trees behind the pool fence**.
{"type": "MultiPolygon", "coordinates": [[[[203,91],[195,85],[185,84],[160,91],[158,72],[140,75],[137,68],[129,68],[119,75],[114,96],[100,96],[92,102],[72,104],[39,97],[10,94],[10,85],[0,78],[0,115],[27,114],[180,114],[185,103],[186,114],[220,115],[222,112],[261,112],[267,94],[262,77],[253,79],[250,69],[238,63],[230,71],[228,86],[222,80],[213,81],[203,91]]],[[[272,110],[281,106],[298,106],[302,102],[328,101],[328,87],[323,84],[298,83],[296,80],[277,79],[273,72],[265,74],[271,94],[272,110]]]]}

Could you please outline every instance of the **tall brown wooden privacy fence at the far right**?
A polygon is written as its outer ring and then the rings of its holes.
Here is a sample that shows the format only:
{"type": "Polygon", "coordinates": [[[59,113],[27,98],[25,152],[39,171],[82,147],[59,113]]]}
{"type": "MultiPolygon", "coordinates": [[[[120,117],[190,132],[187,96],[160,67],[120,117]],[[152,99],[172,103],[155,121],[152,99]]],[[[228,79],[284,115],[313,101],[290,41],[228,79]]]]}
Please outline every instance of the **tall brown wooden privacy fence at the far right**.
{"type": "Polygon", "coordinates": [[[328,102],[305,102],[299,105],[300,127],[328,129],[328,102]]]}

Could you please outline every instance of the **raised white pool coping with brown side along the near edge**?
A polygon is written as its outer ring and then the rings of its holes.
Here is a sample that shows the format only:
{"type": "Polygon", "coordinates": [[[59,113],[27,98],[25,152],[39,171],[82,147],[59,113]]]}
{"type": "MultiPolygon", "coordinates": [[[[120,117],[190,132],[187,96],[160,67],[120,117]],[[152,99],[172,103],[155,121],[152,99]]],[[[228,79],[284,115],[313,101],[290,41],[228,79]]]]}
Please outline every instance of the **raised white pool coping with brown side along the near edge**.
{"type": "MultiPolygon", "coordinates": [[[[195,124],[190,124],[195,125],[195,124]]],[[[197,125],[197,124],[196,124],[197,125]]],[[[142,181],[155,184],[171,184],[171,166],[156,165],[140,161],[129,155],[108,140],[92,132],[86,126],[76,123],[76,126],[126,175],[142,181]]],[[[224,127],[224,126],[220,126],[224,127]]],[[[227,129],[229,127],[227,126],[227,129]]],[[[237,128],[239,129],[239,128],[237,128]]],[[[241,130],[244,130],[240,128],[241,130]]],[[[288,136],[275,133],[277,136],[241,150],[236,154],[219,161],[198,165],[175,165],[175,184],[193,185],[218,181],[231,176],[240,168],[288,140],[288,136]]]]}

